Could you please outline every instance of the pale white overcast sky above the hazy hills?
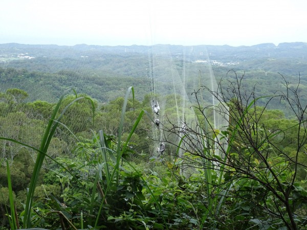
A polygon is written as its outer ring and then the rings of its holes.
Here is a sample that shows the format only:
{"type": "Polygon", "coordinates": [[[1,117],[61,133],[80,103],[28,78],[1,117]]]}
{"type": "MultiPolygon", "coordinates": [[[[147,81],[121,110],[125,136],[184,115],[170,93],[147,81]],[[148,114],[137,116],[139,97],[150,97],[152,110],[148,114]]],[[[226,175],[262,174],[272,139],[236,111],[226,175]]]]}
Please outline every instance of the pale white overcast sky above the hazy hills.
{"type": "Polygon", "coordinates": [[[0,43],[307,42],[306,0],[3,0],[0,43]]]}

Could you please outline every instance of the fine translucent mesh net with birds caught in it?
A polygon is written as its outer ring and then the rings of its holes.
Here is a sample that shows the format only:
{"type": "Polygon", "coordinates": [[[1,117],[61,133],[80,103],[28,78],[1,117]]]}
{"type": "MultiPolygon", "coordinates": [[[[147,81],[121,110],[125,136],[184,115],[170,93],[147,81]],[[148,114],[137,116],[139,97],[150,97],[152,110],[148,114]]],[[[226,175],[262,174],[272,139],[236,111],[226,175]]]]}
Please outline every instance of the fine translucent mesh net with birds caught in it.
{"type": "MultiPolygon", "coordinates": [[[[21,48],[11,44],[2,52],[13,53],[14,49],[21,48]]],[[[116,48],[77,45],[71,48],[74,49],[71,53],[63,53],[61,49],[41,47],[39,51],[43,54],[38,52],[33,59],[2,63],[1,136],[39,148],[55,103],[67,88],[73,88],[77,96],[92,97],[99,112],[93,125],[91,102],[74,103],[64,113],[51,141],[48,154],[53,158],[73,159],[79,143],[90,140],[93,131],[101,129],[108,135],[118,136],[129,86],[134,86],[136,100],[133,103],[130,97],[128,101],[122,140],[127,139],[141,110],[149,114],[143,116],[130,139],[129,148],[134,153],[127,158],[132,162],[150,167],[152,157],[161,160],[166,156],[172,159],[183,156],[188,149],[182,145],[178,151],[177,147],[186,134],[186,127],[198,126],[199,114],[195,110],[198,103],[207,108],[204,111],[212,129],[227,126],[227,111],[218,107],[219,98],[212,95],[218,90],[205,46],[197,53],[193,47],[171,45],[116,48]],[[44,56],[48,52],[52,53],[50,57],[44,56]],[[70,61],[70,65],[65,65],[65,61],[70,61]]],[[[60,111],[75,98],[74,91],[69,91],[60,111]]],[[[30,153],[33,159],[37,154],[6,140],[0,141],[0,145],[3,159],[13,160],[20,151],[30,153]]],[[[47,159],[45,167],[52,169],[55,164],[47,159]]]]}

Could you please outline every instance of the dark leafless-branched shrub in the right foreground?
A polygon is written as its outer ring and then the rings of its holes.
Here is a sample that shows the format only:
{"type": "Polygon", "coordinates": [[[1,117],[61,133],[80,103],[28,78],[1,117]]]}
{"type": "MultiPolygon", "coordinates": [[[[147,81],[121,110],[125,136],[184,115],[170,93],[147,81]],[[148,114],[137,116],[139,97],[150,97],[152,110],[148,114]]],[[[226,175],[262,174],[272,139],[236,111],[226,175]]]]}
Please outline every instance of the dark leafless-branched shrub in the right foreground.
{"type": "Polygon", "coordinates": [[[182,127],[177,124],[172,124],[171,129],[163,126],[164,131],[181,137],[176,155],[182,158],[177,160],[181,167],[204,170],[207,206],[202,227],[219,228],[232,223],[245,229],[257,219],[271,228],[297,229],[303,216],[295,215],[298,203],[294,184],[298,166],[306,167],[298,162],[298,156],[307,142],[306,107],[299,101],[299,85],[293,88],[284,80],[286,93],[257,98],[254,92],[249,94],[242,88],[243,77],[228,82],[226,91],[221,85],[220,91],[202,86],[218,104],[204,107],[201,90],[195,91],[194,108],[199,122],[194,127],[186,125],[183,136],[182,127]],[[262,100],[268,105],[276,98],[289,104],[296,119],[288,127],[271,132],[260,123],[267,106],[259,108],[257,103],[262,100]],[[229,119],[229,127],[215,128],[211,113],[206,112],[213,109],[225,120],[229,119]],[[296,133],[294,157],[276,142],[280,134],[289,130],[296,133]],[[181,156],[179,151],[185,154],[181,156]]]}

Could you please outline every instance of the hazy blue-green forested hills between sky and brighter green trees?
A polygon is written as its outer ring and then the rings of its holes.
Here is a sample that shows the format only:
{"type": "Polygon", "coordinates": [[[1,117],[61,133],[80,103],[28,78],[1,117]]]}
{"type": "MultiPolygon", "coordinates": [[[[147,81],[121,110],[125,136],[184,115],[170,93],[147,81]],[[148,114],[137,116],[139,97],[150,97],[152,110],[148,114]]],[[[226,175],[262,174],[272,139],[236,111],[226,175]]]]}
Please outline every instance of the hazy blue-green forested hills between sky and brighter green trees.
{"type": "Polygon", "coordinates": [[[234,70],[238,75],[245,75],[248,90],[255,86],[256,95],[264,96],[280,89],[281,75],[292,83],[297,83],[300,76],[301,86],[307,84],[306,53],[307,44],[303,42],[252,47],[102,47],[85,44],[65,47],[9,43],[0,44],[0,80],[2,90],[12,85],[26,91],[29,91],[27,87],[35,88],[36,96],[30,96],[29,100],[55,102],[63,89],[73,87],[107,102],[117,97],[114,95],[123,96],[126,87],[132,83],[138,99],[142,100],[150,90],[148,78],[152,73],[146,70],[153,64],[151,59],[155,55],[166,60],[165,66],[160,68],[168,68],[167,60],[171,60],[180,76],[184,73],[186,77],[199,77],[201,66],[208,61],[217,81],[233,78],[227,73],[234,70]]]}

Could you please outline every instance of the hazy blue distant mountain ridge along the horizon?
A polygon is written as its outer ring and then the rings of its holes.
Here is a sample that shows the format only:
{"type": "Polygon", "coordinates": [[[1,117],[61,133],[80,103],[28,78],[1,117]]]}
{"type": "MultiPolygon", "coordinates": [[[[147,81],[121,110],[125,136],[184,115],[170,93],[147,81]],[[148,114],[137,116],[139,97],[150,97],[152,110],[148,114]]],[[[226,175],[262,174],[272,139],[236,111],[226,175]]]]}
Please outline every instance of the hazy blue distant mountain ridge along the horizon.
{"type": "Polygon", "coordinates": [[[55,44],[0,44],[0,55],[14,55],[17,53],[31,53],[35,57],[79,57],[97,53],[141,53],[148,54],[154,49],[156,53],[169,52],[172,55],[183,55],[183,50],[188,50],[185,55],[198,57],[201,54],[208,54],[210,59],[236,59],[246,60],[250,58],[271,57],[271,58],[302,58],[307,54],[306,42],[284,42],[277,46],[273,43],[262,43],[251,46],[231,47],[230,45],[168,45],[156,44],[146,45],[87,45],[76,44],[73,46],[55,44]]]}

